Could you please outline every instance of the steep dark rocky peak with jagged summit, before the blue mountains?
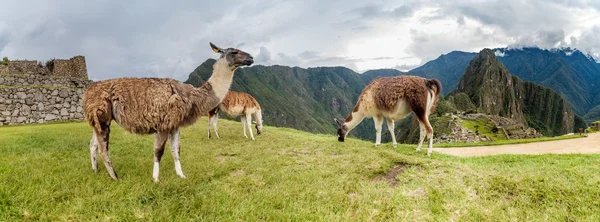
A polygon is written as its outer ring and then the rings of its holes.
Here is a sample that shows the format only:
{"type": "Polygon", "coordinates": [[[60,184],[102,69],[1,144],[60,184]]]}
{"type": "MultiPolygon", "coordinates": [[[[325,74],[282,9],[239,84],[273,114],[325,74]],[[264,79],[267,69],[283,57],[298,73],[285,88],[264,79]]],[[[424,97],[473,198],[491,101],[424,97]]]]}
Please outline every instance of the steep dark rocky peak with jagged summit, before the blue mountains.
{"type": "Polygon", "coordinates": [[[491,49],[471,60],[450,96],[459,94],[466,94],[479,113],[523,122],[544,135],[573,132],[575,119],[581,119],[552,89],[511,75],[491,49]]]}

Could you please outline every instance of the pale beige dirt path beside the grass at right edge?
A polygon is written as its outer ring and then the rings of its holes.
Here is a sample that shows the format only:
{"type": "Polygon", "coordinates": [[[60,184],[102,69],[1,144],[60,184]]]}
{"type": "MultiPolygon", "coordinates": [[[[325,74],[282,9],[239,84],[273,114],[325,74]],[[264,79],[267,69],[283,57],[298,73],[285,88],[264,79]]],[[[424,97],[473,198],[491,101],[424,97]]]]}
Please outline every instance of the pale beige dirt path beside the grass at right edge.
{"type": "Polygon", "coordinates": [[[433,151],[461,157],[498,154],[600,153],[600,133],[592,133],[588,137],[577,139],[499,146],[433,148],[433,151]]]}

